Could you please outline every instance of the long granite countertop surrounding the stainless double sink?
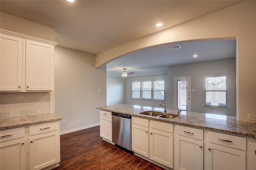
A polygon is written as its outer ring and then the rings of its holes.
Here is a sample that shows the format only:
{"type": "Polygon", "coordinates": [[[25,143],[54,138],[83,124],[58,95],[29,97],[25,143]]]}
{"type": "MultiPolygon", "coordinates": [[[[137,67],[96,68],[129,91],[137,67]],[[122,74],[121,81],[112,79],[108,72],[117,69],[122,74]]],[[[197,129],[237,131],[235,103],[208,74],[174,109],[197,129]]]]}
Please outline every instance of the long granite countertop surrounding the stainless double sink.
{"type": "MultiPolygon", "coordinates": [[[[178,117],[175,117],[174,119],[166,119],[162,117],[139,114],[142,111],[148,110],[164,112],[164,109],[162,108],[120,104],[97,107],[97,109],[104,111],[114,111],[117,113],[124,113],[136,117],[174,123],[178,125],[185,125],[210,131],[219,131],[222,133],[230,133],[233,135],[256,138],[256,123],[237,121],[236,117],[234,116],[182,111],[178,117]]],[[[167,114],[168,113],[177,115],[177,110],[167,109],[167,114]]]]}

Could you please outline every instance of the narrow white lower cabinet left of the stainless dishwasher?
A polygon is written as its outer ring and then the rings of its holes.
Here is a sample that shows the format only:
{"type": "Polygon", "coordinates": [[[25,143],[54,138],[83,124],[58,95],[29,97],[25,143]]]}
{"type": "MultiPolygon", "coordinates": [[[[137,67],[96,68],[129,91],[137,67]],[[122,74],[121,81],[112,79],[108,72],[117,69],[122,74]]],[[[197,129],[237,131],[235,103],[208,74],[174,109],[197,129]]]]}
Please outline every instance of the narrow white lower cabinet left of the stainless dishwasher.
{"type": "Polygon", "coordinates": [[[112,142],[112,113],[100,111],[100,137],[112,142]]]}

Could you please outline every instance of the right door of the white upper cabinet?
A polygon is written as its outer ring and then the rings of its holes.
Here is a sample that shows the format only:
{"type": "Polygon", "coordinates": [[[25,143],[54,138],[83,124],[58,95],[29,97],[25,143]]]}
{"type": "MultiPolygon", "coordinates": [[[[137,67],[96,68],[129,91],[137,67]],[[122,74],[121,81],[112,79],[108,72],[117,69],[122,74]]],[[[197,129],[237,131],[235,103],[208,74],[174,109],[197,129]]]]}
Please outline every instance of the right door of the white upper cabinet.
{"type": "Polygon", "coordinates": [[[54,46],[26,41],[26,90],[53,90],[54,46]]]}

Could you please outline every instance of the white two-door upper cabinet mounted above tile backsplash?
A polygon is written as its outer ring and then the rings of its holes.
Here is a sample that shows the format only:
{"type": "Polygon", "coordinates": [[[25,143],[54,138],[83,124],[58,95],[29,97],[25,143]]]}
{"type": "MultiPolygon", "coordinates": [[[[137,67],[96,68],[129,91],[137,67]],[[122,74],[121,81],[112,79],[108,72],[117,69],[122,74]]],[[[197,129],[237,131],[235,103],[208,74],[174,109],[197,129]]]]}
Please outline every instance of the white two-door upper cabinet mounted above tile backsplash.
{"type": "Polygon", "coordinates": [[[0,31],[0,91],[54,90],[56,43],[0,31]]]}

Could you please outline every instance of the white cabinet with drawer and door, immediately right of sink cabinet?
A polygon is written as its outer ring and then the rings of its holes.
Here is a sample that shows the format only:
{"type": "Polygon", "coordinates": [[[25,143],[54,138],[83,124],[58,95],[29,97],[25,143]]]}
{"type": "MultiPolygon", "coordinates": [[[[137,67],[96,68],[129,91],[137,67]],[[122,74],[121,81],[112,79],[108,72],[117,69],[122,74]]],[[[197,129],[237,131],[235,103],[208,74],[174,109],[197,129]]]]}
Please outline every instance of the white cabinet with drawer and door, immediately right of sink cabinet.
{"type": "Polygon", "coordinates": [[[204,169],[204,131],[175,125],[175,170],[204,169]]]}

